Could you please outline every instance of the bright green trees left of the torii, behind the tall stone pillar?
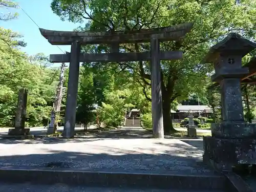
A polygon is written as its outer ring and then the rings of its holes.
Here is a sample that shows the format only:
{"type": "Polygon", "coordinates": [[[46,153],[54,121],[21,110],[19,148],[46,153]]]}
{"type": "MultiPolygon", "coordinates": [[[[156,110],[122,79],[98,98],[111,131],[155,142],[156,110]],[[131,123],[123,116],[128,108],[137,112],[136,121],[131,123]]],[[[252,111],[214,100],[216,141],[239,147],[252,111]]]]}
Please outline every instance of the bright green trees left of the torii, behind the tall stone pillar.
{"type": "MultiPolygon", "coordinates": [[[[0,1],[0,8],[16,8],[13,1],[0,1]]],[[[3,14],[0,22],[16,18],[17,14],[3,14]]],[[[13,126],[17,95],[20,88],[28,89],[27,126],[37,126],[49,120],[55,98],[56,74],[48,58],[42,54],[28,56],[20,51],[26,46],[20,35],[0,28],[0,126],[13,126]]]]}

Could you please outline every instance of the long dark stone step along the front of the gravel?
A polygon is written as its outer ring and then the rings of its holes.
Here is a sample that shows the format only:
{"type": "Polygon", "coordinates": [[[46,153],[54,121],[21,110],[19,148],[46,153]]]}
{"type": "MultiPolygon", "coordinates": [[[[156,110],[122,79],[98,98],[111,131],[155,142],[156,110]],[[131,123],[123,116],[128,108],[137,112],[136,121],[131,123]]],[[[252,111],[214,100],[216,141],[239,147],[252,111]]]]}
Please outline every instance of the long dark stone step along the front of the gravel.
{"type": "MultiPolygon", "coordinates": [[[[16,167],[16,166],[15,166],[16,167]]],[[[30,184],[65,184],[97,187],[145,187],[182,190],[224,190],[227,179],[213,173],[170,174],[148,173],[147,171],[125,172],[96,169],[45,168],[45,167],[2,167],[0,182],[30,184]]],[[[2,185],[1,185],[2,186],[2,185]]],[[[127,190],[125,190],[127,191],[127,190]]],[[[129,191],[129,190],[128,190],[129,191]]]]}

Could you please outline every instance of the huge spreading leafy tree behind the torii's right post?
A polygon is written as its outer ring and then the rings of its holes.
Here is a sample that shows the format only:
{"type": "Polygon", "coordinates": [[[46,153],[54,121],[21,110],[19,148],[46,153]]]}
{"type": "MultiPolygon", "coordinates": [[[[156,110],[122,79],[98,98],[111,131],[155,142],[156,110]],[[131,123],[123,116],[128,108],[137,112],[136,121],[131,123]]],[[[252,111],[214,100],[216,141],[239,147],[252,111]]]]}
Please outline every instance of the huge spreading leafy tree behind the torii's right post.
{"type": "MultiPolygon", "coordinates": [[[[181,60],[161,62],[163,121],[166,133],[174,131],[170,118],[171,103],[186,98],[193,91],[200,93],[206,73],[211,72],[211,66],[200,64],[209,47],[229,32],[239,32],[247,36],[254,34],[255,4],[255,1],[248,0],[240,3],[231,0],[53,0],[51,6],[61,19],[74,23],[83,23],[89,19],[86,29],[93,31],[132,31],[194,22],[193,31],[183,40],[161,44],[162,50],[184,52],[181,60]]],[[[149,46],[135,43],[122,45],[121,49],[139,52],[149,50],[149,46]]],[[[119,64],[121,69],[132,70],[136,81],[144,89],[150,86],[148,62],[119,64]]],[[[150,97],[147,98],[150,100],[150,97]]]]}

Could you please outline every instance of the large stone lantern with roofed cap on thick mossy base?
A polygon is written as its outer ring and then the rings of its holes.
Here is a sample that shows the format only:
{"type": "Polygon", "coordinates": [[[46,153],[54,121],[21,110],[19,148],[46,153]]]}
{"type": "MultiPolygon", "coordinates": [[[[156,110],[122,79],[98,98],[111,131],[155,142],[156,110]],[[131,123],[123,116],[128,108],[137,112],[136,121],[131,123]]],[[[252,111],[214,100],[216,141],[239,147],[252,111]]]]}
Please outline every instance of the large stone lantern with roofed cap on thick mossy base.
{"type": "Polygon", "coordinates": [[[213,62],[211,80],[220,83],[222,122],[211,124],[211,137],[204,137],[203,161],[231,170],[238,164],[256,164],[256,124],[244,121],[240,79],[249,73],[242,57],[256,44],[230,33],[210,49],[205,62],[213,62]]]}

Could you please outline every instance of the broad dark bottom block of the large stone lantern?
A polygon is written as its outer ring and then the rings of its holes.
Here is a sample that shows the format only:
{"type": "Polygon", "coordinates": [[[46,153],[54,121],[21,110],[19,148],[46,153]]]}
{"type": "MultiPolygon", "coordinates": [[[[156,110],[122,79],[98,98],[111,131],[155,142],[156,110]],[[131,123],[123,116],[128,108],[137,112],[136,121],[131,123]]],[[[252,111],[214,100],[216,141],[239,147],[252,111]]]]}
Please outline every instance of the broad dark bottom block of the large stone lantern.
{"type": "Polygon", "coordinates": [[[203,137],[203,161],[219,170],[231,171],[239,164],[256,164],[256,139],[203,137]]]}

